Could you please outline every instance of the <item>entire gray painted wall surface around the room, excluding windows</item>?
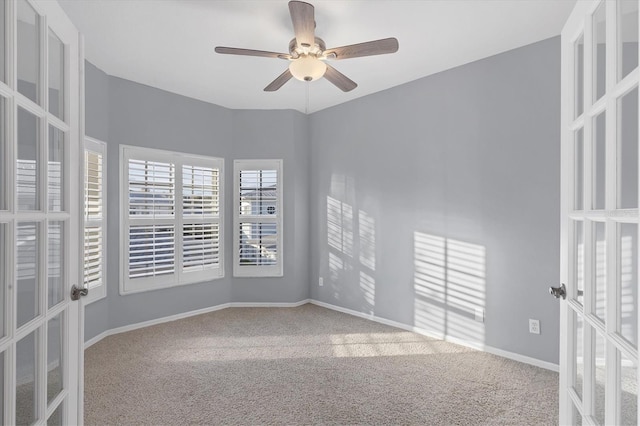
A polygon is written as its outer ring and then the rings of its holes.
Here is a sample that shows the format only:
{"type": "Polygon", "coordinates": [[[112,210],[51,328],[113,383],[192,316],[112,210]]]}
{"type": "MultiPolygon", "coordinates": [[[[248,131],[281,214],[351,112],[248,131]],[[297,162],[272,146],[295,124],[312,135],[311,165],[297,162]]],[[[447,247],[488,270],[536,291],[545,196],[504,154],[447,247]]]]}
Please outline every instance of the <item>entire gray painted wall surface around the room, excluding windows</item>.
{"type": "Polygon", "coordinates": [[[311,297],[558,362],[547,287],[559,277],[559,38],[308,117],[228,110],[88,65],[86,110],[87,133],[108,143],[110,230],[108,297],[87,307],[86,339],[226,302],[311,297]],[[224,279],[119,295],[119,144],[225,159],[224,279]],[[283,278],[232,277],[237,158],[284,159],[283,278]]]}

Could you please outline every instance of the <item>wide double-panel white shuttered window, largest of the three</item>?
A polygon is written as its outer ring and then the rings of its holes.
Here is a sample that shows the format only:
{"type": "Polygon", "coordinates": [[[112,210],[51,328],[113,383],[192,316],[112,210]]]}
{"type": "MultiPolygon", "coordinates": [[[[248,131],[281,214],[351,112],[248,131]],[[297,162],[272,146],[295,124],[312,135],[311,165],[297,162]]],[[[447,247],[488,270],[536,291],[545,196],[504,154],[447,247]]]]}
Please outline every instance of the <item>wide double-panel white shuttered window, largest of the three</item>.
{"type": "Polygon", "coordinates": [[[223,160],[121,147],[122,294],[221,278],[223,160]]]}

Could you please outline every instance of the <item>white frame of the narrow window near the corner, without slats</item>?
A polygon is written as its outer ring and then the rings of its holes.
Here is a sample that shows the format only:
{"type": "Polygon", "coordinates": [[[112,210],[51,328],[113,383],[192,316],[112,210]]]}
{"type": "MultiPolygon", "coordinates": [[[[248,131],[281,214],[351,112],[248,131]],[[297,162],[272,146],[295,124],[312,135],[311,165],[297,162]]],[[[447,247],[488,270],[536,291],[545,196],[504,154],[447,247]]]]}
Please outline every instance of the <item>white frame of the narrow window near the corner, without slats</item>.
{"type": "Polygon", "coordinates": [[[283,276],[283,173],[282,160],[234,160],[233,162],[233,275],[235,277],[283,276]],[[276,215],[240,215],[240,172],[244,170],[276,170],[276,215]],[[276,224],[277,260],[275,265],[249,266],[240,264],[240,223],[260,222],[276,224]]]}

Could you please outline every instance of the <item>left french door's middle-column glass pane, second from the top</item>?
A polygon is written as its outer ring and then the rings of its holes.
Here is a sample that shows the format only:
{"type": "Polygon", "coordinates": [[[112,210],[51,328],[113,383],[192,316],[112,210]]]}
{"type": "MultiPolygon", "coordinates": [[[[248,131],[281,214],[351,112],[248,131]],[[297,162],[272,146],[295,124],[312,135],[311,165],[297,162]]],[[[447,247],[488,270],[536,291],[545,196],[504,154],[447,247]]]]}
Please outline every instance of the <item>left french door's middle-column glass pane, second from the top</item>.
{"type": "Polygon", "coordinates": [[[35,115],[18,108],[18,162],[16,180],[19,210],[40,209],[39,122],[35,115]]]}

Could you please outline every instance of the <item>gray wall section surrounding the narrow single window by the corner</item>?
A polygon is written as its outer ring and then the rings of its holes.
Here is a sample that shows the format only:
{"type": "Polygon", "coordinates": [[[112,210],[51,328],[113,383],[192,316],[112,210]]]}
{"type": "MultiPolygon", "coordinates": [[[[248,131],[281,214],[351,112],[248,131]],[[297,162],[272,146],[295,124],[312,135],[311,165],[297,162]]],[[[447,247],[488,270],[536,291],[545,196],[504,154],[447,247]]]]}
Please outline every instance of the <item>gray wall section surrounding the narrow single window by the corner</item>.
{"type": "MultiPolygon", "coordinates": [[[[309,138],[307,119],[295,111],[234,111],[234,158],[282,158],[284,201],[284,277],[234,278],[234,302],[298,302],[309,298],[309,138]]],[[[233,179],[233,163],[227,181],[233,179]]],[[[227,188],[230,188],[227,185],[227,188]]],[[[231,194],[227,192],[228,217],[231,194]]],[[[232,221],[227,229],[233,229],[232,221]]],[[[229,243],[231,241],[229,240],[229,243]]],[[[231,258],[232,252],[229,250],[231,258]]],[[[229,273],[233,265],[228,263],[229,273]]]]}

